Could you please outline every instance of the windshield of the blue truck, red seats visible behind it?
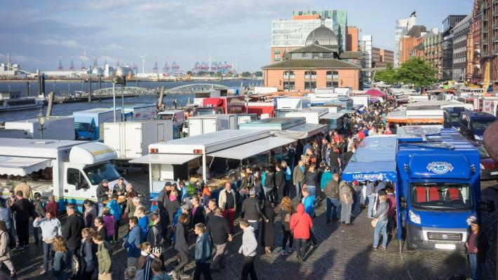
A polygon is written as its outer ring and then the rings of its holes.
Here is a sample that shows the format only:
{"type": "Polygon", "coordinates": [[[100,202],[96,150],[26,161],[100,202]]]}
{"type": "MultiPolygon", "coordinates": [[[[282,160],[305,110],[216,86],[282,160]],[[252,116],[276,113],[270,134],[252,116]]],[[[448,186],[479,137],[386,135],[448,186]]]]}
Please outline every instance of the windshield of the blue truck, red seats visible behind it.
{"type": "Polygon", "coordinates": [[[471,209],[469,184],[412,183],[412,206],[433,209],[471,209]]]}

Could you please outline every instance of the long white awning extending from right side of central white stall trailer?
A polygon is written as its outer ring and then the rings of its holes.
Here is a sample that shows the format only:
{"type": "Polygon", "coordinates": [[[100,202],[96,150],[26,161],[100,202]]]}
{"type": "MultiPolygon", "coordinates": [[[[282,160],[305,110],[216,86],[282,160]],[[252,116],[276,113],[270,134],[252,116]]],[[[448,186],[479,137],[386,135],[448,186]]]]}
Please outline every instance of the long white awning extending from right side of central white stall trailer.
{"type": "Polygon", "coordinates": [[[283,137],[267,137],[247,144],[210,153],[208,155],[217,158],[232,158],[236,160],[243,160],[245,158],[250,158],[253,155],[258,155],[260,153],[270,151],[273,148],[278,148],[280,146],[290,144],[294,141],[294,139],[283,137]]]}

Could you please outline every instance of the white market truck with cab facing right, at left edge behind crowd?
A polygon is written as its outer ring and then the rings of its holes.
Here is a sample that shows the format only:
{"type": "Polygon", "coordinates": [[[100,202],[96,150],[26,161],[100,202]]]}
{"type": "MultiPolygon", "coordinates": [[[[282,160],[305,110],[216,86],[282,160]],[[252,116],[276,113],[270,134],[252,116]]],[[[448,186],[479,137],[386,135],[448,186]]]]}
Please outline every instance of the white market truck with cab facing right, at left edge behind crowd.
{"type": "Polygon", "coordinates": [[[121,175],[109,162],[114,159],[114,150],[99,142],[0,138],[2,195],[22,177],[45,199],[55,195],[60,210],[69,203],[81,207],[84,200],[97,201],[103,179],[111,188],[117,183],[121,175]]]}

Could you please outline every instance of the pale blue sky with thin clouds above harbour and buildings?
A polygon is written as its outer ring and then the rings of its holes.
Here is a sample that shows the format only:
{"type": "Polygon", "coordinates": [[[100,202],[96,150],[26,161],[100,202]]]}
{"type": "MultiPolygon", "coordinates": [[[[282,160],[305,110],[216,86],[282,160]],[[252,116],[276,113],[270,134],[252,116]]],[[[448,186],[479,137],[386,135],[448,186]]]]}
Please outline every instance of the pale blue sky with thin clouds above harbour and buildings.
{"type": "Polygon", "coordinates": [[[393,50],[394,25],[417,11],[417,25],[438,27],[447,15],[471,13],[473,0],[0,0],[0,62],[7,53],[22,69],[56,70],[105,57],[116,65],[152,71],[157,57],[190,70],[207,57],[258,71],[270,61],[271,20],[290,19],[292,10],[347,10],[348,25],[371,34],[372,44],[393,50]]]}

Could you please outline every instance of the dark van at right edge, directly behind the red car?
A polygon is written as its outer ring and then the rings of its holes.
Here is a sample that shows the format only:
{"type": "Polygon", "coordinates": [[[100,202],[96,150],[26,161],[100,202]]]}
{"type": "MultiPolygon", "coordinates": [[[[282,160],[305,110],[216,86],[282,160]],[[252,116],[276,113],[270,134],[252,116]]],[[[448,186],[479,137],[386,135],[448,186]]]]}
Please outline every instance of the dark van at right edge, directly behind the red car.
{"type": "Polygon", "coordinates": [[[497,118],[489,113],[464,111],[460,113],[459,131],[473,136],[476,140],[483,140],[486,128],[496,121],[497,118]]]}

